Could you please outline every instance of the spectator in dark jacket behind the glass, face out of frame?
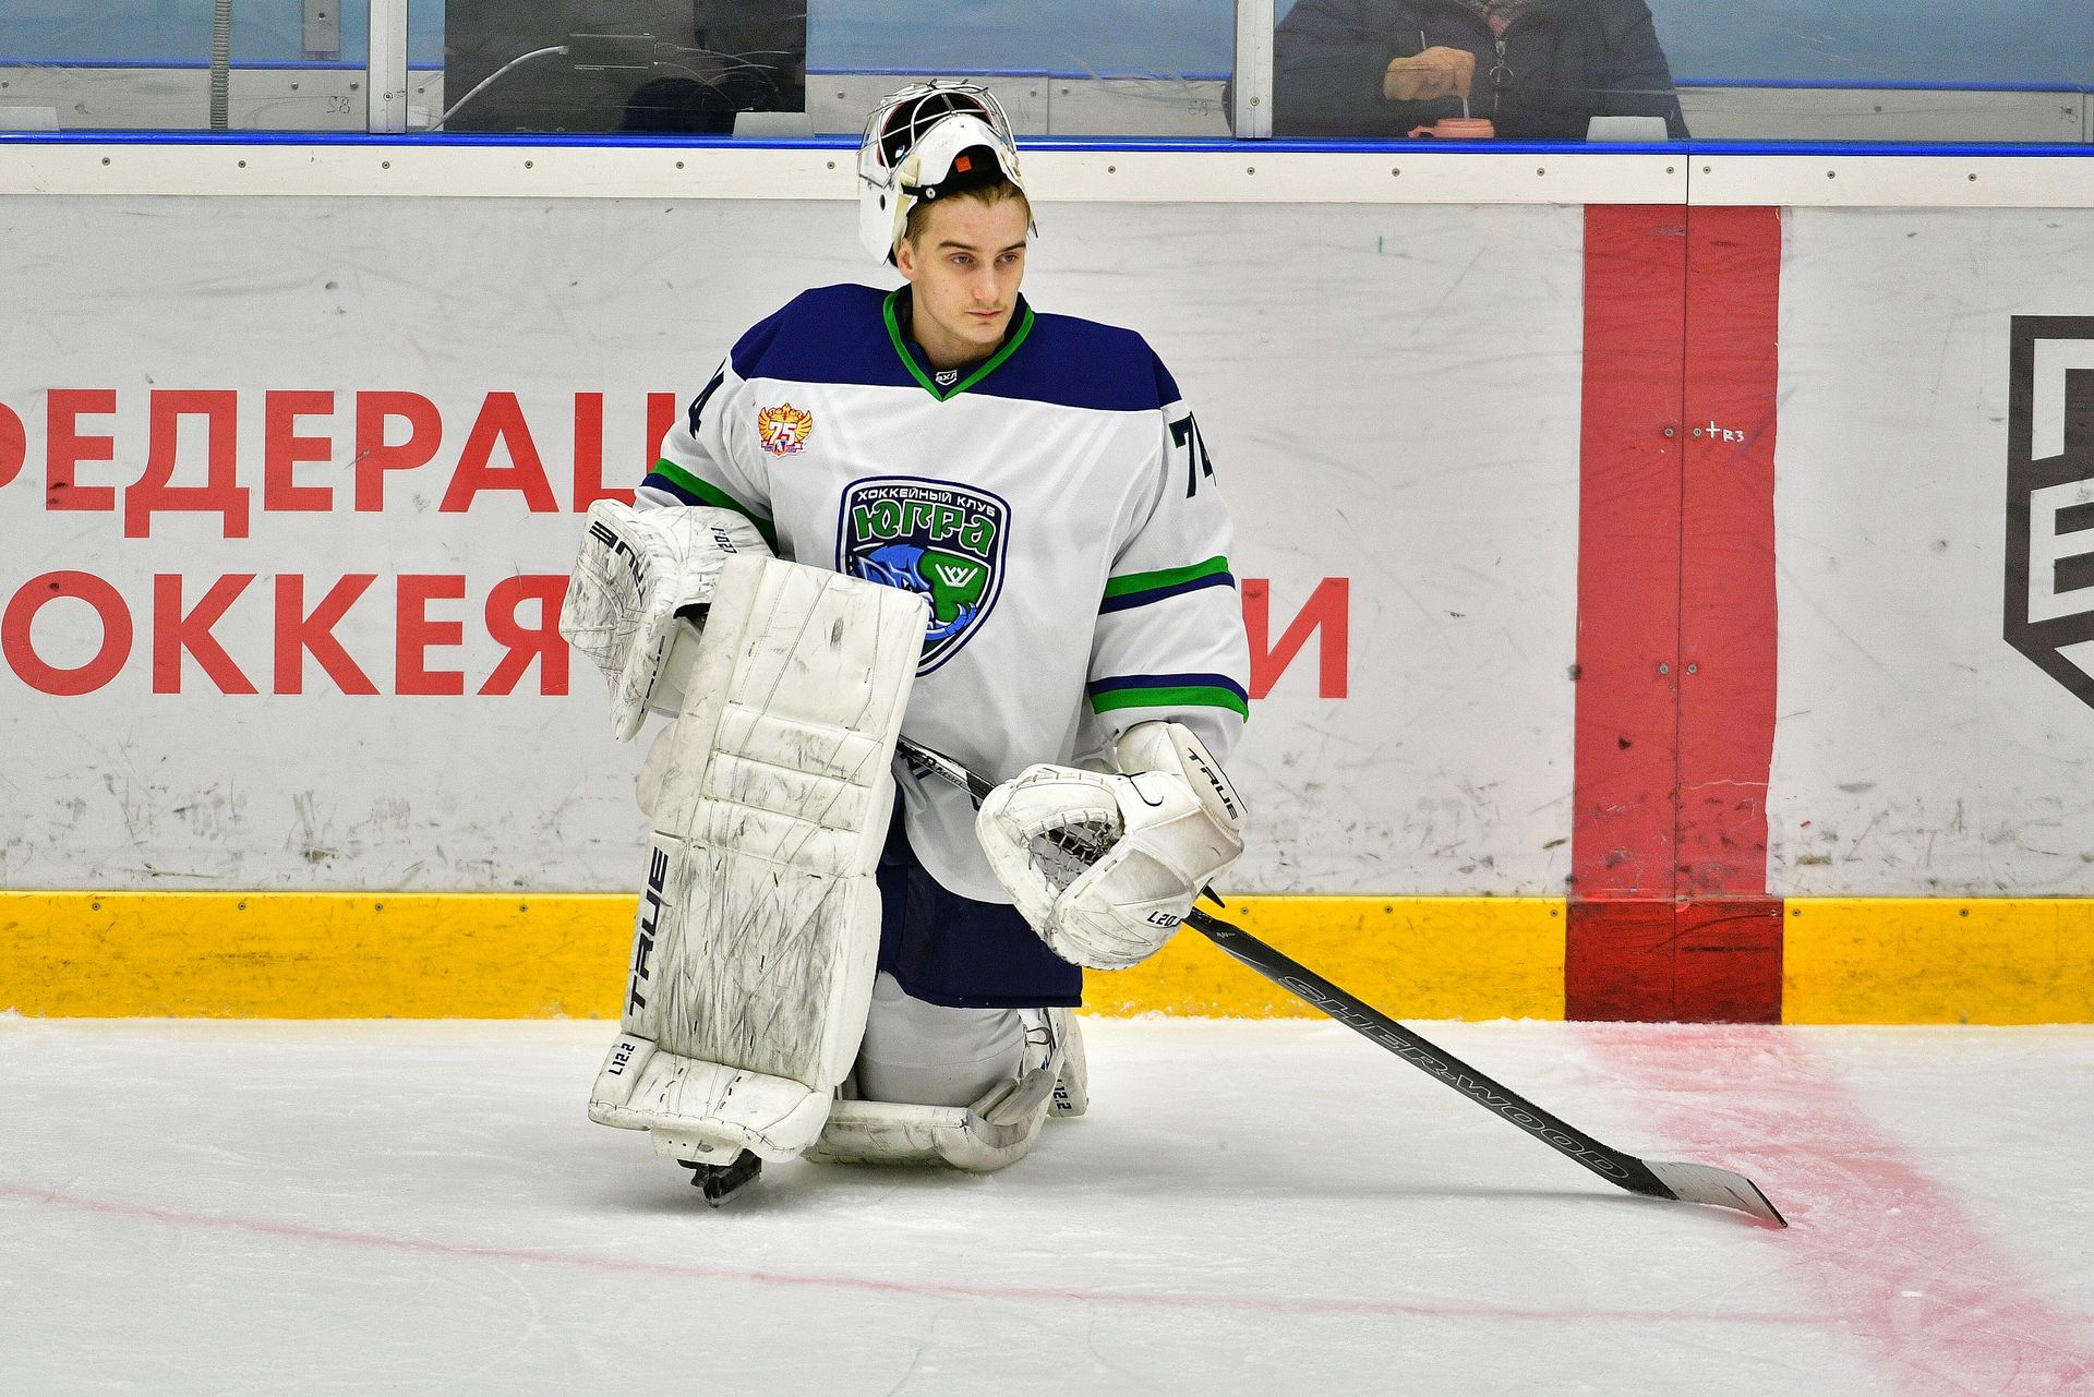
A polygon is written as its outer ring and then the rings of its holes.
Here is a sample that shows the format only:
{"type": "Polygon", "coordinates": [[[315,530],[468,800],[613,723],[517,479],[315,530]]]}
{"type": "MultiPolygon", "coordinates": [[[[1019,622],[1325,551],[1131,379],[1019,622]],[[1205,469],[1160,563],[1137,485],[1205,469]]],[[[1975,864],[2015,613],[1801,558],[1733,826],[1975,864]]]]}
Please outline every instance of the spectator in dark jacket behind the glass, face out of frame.
{"type": "Polygon", "coordinates": [[[1460,115],[1499,136],[1583,140],[1600,115],[1688,134],[1644,0],[1298,0],[1273,29],[1273,86],[1279,136],[1405,136],[1460,115]]]}

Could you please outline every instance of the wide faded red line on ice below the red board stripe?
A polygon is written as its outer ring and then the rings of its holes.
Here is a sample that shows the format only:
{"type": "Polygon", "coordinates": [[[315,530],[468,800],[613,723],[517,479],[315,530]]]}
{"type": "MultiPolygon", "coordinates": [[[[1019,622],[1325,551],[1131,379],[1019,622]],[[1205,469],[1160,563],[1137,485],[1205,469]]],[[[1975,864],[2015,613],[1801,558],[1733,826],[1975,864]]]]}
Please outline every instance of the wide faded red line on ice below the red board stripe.
{"type": "Polygon", "coordinates": [[[1893,1376],[1885,1391],[2094,1393],[2088,1320],[2046,1294],[1790,1030],[1681,1039],[1591,1024],[1587,1035],[1656,1104],[1656,1127],[1681,1156],[1742,1169],[1782,1208],[1790,1229],[1769,1232],[1765,1246],[1818,1292],[1822,1324],[1893,1376]],[[1751,1095],[1725,1110],[1725,1085],[1744,1074],[1751,1095]]]}

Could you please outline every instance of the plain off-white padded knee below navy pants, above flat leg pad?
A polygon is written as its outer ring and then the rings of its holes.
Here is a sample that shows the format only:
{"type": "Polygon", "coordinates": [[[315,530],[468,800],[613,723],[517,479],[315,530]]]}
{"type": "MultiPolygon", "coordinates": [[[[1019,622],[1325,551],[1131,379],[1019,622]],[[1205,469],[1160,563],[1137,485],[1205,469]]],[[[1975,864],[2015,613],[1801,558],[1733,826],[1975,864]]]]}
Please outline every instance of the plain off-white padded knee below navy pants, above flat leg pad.
{"type": "Polygon", "coordinates": [[[951,1010],[903,993],[879,972],[852,1079],[854,1095],[970,1106],[1013,1081],[1026,1049],[1022,1010],[951,1010]]]}

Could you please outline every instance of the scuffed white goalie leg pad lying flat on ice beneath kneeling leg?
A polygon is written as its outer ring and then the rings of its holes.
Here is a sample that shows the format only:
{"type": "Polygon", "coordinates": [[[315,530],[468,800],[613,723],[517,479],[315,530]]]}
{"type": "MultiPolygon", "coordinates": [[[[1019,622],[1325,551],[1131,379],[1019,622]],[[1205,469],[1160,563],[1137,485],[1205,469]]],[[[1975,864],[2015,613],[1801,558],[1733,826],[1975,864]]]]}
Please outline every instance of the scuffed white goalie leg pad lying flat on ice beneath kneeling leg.
{"type": "Polygon", "coordinates": [[[1087,1104],[1081,1043],[1066,1012],[1018,1014],[1026,1024],[1018,1068],[978,1100],[967,1106],[836,1102],[806,1158],[827,1165],[951,1165],[970,1173],[1016,1165],[1032,1150],[1049,1114],[1078,1116],[1087,1104]],[[1072,1045],[1078,1054],[1076,1085],[1074,1095],[1064,1097],[1072,1045]]]}

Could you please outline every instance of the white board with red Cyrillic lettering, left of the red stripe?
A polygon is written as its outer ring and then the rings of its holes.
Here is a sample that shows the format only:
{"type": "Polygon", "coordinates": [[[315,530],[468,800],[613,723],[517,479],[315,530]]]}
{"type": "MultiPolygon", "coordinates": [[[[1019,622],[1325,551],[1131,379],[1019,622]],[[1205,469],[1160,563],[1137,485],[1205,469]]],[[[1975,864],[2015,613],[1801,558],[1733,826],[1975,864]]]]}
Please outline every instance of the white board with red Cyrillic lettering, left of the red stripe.
{"type": "MultiPolygon", "coordinates": [[[[551,643],[578,507],[877,279],[852,218],[10,199],[0,884],[630,888],[641,750],[551,643]]],[[[1558,890],[1581,212],[1053,205],[1026,289],[1152,339],[1265,582],[1238,886],[1558,890]]]]}

